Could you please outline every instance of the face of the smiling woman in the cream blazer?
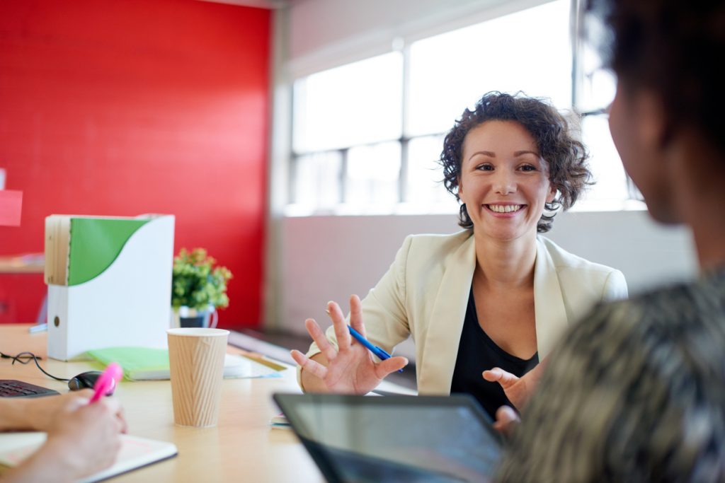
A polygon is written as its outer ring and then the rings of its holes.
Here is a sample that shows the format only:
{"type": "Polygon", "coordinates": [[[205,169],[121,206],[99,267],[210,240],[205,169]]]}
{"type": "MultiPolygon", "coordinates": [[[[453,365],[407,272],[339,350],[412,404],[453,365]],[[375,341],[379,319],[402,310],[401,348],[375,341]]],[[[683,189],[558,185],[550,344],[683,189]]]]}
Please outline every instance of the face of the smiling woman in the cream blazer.
{"type": "Polygon", "coordinates": [[[468,131],[462,151],[458,195],[474,232],[502,241],[536,236],[556,190],[529,131],[514,121],[486,121],[468,131]]]}

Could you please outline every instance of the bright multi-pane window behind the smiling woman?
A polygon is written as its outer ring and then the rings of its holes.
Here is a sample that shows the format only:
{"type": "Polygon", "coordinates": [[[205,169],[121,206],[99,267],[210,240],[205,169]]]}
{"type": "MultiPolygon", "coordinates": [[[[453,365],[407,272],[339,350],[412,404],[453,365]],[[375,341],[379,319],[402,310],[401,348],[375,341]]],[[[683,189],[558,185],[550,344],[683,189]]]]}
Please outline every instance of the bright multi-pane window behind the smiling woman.
{"type": "Polygon", "coordinates": [[[570,17],[571,1],[555,0],[296,80],[288,213],[456,212],[436,161],[488,91],[550,98],[579,122],[597,182],[587,202],[621,208],[636,193],[607,125],[614,79],[592,48],[572,58],[570,17]]]}

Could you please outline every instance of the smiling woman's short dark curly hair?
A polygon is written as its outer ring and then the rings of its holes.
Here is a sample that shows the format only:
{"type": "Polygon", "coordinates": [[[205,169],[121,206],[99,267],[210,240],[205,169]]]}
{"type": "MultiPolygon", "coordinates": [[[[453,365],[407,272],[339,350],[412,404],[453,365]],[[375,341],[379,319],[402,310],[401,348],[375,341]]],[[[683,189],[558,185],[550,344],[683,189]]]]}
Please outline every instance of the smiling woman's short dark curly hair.
{"type": "MultiPolygon", "coordinates": [[[[553,201],[544,205],[537,231],[551,230],[557,211],[571,208],[582,190],[591,184],[587,148],[572,137],[566,119],[542,99],[526,97],[521,92],[513,96],[497,91],[486,93],[473,110],[463,111],[443,141],[439,159],[443,166],[443,184],[458,201],[463,140],[470,130],[486,121],[518,122],[536,141],[539,155],[547,162],[549,180],[556,189],[553,201]]],[[[473,227],[465,203],[460,206],[458,224],[464,228],[473,227]]]]}

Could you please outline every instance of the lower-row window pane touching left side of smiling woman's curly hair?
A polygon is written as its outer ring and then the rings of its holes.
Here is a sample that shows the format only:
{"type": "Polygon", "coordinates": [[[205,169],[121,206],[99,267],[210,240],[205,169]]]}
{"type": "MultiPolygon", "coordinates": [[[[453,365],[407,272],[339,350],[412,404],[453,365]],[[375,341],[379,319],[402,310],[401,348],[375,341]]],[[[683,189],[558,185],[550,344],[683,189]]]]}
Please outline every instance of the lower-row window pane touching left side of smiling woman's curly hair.
{"type": "Polygon", "coordinates": [[[443,203],[455,209],[455,198],[443,185],[443,168],[438,163],[443,136],[414,138],[408,143],[407,196],[421,211],[443,203]]]}

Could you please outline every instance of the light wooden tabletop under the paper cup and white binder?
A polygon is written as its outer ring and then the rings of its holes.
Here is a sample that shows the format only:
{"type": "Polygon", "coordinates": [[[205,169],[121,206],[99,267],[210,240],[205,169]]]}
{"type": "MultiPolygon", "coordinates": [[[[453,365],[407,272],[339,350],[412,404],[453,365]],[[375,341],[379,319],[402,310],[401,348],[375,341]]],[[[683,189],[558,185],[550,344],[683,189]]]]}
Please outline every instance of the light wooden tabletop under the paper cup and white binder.
{"type": "MultiPolygon", "coordinates": [[[[29,334],[29,324],[0,327],[0,351],[29,350],[46,357],[46,333],[29,334]]],[[[229,348],[234,353],[235,348],[229,348]]],[[[86,362],[43,360],[57,377],[91,369],[86,362]]],[[[113,482],[324,482],[307,451],[289,429],[270,429],[277,413],[274,392],[299,392],[294,369],[281,378],[224,379],[219,424],[215,428],[177,427],[173,423],[169,381],[121,382],[115,392],[125,410],[128,432],[171,441],[178,456],[117,476],[113,482]]],[[[46,377],[30,364],[0,360],[0,379],[21,379],[66,392],[65,382],[46,377]]]]}

